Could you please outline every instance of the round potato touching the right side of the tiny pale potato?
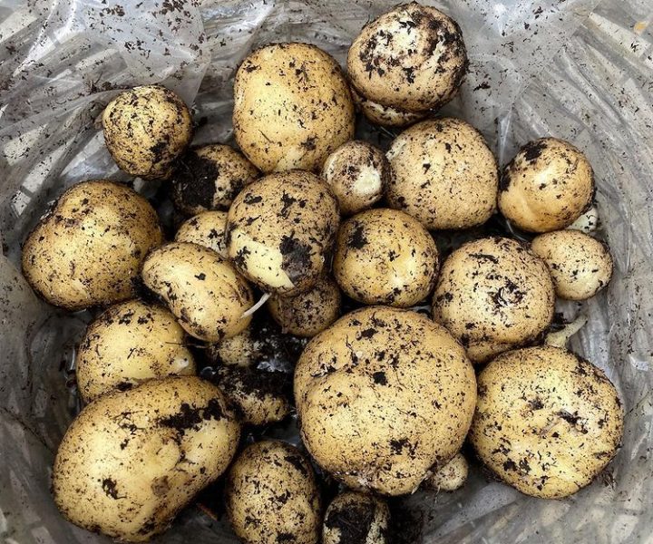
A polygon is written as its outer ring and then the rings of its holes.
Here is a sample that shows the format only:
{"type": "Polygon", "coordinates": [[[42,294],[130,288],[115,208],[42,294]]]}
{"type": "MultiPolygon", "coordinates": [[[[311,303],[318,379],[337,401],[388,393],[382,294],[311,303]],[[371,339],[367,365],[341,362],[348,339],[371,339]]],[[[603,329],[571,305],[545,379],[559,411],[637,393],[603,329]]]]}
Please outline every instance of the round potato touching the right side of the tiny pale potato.
{"type": "Polygon", "coordinates": [[[461,119],[417,123],[397,136],[387,158],[395,174],[389,206],[426,228],[475,227],[496,209],[496,160],[481,133],[461,119]]]}

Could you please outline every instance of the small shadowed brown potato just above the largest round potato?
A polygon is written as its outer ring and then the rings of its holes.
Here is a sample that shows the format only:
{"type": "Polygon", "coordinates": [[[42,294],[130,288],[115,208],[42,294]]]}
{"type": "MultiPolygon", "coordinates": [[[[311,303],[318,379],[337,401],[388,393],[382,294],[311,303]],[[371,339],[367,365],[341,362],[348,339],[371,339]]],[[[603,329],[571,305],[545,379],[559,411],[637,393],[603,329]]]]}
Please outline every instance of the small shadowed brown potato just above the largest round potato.
{"type": "Polygon", "coordinates": [[[302,293],[270,296],[268,309],[284,332],[315,336],[340,316],[340,289],[330,277],[322,277],[302,293]]]}

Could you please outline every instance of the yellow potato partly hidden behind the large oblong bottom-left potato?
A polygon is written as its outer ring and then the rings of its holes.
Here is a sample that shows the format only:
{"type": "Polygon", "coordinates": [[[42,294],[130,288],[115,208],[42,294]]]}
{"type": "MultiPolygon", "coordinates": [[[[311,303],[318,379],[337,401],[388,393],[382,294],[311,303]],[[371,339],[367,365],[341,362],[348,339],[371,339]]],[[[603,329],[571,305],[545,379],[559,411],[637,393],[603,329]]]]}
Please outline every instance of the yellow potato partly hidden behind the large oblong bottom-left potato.
{"type": "Polygon", "coordinates": [[[161,306],[130,300],[111,306],[86,329],[77,350],[77,387],[89,403],[152,378],[195,374],[184,330],[161,306]]]}

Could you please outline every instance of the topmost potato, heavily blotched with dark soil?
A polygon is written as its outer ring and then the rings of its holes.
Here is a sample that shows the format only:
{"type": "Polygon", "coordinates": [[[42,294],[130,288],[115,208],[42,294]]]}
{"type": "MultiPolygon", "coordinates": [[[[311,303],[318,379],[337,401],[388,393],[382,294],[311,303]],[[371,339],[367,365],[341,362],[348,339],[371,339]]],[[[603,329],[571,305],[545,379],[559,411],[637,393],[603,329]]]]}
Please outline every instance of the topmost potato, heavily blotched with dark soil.
{"type": "Polygon", "coordinates": [[[440,108],[458,91],[467,53],[458,24],[427,5],[397,5],[366,24],[347,55],[356,91],[407,112],[440,108]]]}

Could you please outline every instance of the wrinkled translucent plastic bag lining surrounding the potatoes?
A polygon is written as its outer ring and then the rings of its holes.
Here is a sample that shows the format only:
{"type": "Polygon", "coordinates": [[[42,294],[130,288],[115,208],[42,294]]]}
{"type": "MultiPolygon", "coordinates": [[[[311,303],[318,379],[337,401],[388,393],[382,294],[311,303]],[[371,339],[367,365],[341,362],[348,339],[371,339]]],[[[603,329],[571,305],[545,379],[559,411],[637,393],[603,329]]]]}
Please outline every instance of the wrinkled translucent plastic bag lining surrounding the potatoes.
{"type": "MultiPolygon", "coordinates": [[[[525,497],[473,471],[461,491],[416,493],[426,542],[650,542],[653,532],[653,5],[649,0],[451,0],[471,72],[444,110],[491,142],[502,164],[525,141],[554,135],[589,156],[615,277],[589,303],[573,347],[603,368],[626,407],[623,447],[597,481],[567,500],[525,497]]],[[[388,1],[0,0],[0,537],[106,541],[74,528],[49,493],[54,452],[76,410],[66,384],[89,319],[36,299],[20,243],[65,187],[127,180],[97,118],[117,89],[163,82],[189,102],[197,142],[229,141],[231,85],[259,44],[306,41],[343,62],[388,1]],[[69,374],[69,373],[68,373],[69,374]]],[[[367,131],[386,145],[385,131],[367,131]]],[[[138,187],[138,185],[137,185],[138,187]]],[[[198,510],[157,541],[231,542],[198,510]]]]}

